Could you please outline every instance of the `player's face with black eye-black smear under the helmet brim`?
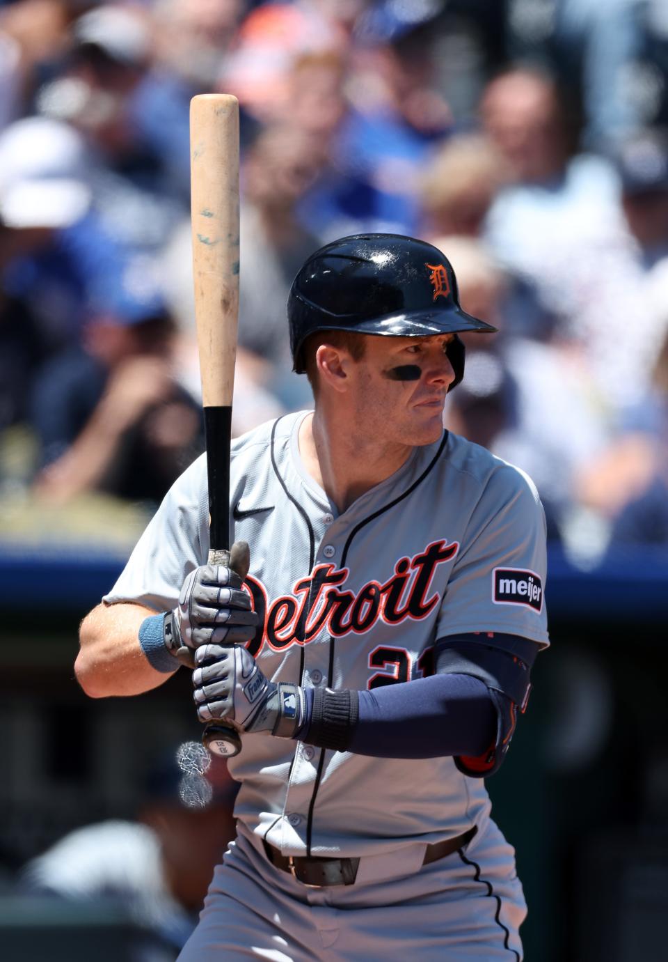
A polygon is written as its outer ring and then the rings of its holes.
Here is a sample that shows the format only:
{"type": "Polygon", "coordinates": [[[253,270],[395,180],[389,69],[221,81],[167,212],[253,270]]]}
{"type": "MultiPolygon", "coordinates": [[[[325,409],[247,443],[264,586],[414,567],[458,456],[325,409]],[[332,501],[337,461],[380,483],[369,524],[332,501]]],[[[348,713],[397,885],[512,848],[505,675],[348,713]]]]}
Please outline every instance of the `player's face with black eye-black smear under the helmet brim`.
{"type": "Polygon", "coordinates": [[[445,353],[453,338],[366,338],[351,389],[360,418],[379,440],[412,446],[440,438],[445,395],[455,380],[445,353]]]}

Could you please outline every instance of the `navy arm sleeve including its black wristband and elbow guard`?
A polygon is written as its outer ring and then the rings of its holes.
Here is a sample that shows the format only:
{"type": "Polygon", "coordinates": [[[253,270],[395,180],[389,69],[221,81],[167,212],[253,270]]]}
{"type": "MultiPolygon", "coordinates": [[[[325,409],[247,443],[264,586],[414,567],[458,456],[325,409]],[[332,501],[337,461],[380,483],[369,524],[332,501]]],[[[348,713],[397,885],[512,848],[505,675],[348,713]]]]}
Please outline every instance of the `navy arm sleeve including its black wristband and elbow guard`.
{"type": "Polygon", "coordinates": [[[295,737],[377,758],[450,755],[464,774],[487,777],[526,709],[535,653],[535,643],[513,635],[440,639],[431,677],[372,691],[306,690],[295,737]]]}

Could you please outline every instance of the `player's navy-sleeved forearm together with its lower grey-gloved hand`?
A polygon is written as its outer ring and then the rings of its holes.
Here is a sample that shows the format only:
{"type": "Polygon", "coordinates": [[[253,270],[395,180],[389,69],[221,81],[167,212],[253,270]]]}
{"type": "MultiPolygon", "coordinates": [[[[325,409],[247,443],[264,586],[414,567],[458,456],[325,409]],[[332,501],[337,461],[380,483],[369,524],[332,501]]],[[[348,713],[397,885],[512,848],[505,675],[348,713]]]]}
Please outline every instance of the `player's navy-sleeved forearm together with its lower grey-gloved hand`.
{"type": "Polygon", "coordinates": [[[374,692],[331,691],[269,681],[241,645],[199,646],[194,662],[201,722],[378,758],[475,757],[497,741],[495,701],[487,685],[467,673],[374,692]]]}

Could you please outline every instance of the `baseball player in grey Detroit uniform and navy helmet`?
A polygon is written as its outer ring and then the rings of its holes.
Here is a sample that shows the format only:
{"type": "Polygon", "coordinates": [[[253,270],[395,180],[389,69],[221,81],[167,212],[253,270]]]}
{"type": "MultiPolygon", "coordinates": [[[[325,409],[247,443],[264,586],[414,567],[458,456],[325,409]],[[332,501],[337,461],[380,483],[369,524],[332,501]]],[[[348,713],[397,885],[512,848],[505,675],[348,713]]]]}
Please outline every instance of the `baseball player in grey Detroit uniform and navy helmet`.
{"type": "Polygon", "coordinates": [[[532,481],[443,430],[465,314],[444,255],[367,234],[316,251],[287,307],[314,411],[233,445],[242,581],[207,566],[207,473],[176,482],[82,626],[90,695],[191,649],[202,722],[241,750],[237,838],[184,962],[519,960],[526,906],[484,777],[548,645],[532,481]]]}

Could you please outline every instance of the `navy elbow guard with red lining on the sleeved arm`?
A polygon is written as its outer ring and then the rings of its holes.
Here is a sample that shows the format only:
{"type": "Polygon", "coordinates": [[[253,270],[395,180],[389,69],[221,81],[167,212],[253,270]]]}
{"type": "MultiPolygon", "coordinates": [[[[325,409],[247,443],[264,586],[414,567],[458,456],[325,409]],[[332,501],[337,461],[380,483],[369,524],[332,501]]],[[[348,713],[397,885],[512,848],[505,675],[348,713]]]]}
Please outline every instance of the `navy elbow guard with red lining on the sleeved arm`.
{"type": "MultiPolygon", "coordinates": [[[[496,737],[490,746],[475,757],[456,755],[459,772],[472,778],[488,778],[501,768],[517,724],[517,714],[524,714],[531,692],[530,673],[536,646],[525,639],[511,639],[511,648],[485,645],[464,638],[442,639],[436,643],[436,671],[471,674],[480,678],[496,708],[496,737]],[[523,658],[516,653],[522,652],[523,658]]],[[[508,636],[497,636],[504,644],[508,636]]]]}

